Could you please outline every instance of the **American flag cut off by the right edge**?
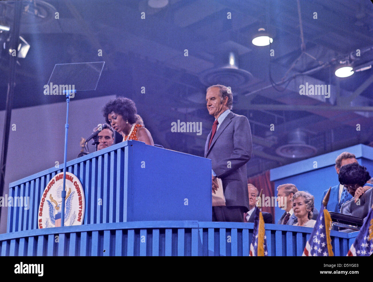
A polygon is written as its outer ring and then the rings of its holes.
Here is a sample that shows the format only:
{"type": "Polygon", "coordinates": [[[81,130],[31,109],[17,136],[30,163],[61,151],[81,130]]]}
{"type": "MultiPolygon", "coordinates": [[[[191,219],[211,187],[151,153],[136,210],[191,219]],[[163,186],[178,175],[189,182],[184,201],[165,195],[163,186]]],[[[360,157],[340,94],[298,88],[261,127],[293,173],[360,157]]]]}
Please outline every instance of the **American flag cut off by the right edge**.
{"type": "Polygon", "coordinates": [[[370,209],[347,256],[370,256],[371,254],[373,254],[373,208],[370,209]]]}

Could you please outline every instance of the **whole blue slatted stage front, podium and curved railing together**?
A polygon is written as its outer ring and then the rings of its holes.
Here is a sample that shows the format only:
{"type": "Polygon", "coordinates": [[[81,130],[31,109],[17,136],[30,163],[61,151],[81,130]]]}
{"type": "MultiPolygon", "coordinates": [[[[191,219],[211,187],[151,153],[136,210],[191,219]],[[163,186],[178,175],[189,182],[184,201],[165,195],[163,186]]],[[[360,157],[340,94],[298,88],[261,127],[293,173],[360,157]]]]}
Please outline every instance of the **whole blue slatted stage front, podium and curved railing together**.
{"type": "MultiPolygon", "coordinates": [[[[82,225],[38,229],[50,168],[10,183],[9,196],[30,197],[29,209],[8,207],[1,256],[248,256],[253,224],[211,222],[211,161],[122,142],[67,163],[82,183],[82,225]],[[58,240],[57,240],[58,238],[58,240]]],[[[300,256],[311,228],[266,224],[269,256],[300,256]]],[[[357,232],[331,231],[345,256],[357,232]]]]}

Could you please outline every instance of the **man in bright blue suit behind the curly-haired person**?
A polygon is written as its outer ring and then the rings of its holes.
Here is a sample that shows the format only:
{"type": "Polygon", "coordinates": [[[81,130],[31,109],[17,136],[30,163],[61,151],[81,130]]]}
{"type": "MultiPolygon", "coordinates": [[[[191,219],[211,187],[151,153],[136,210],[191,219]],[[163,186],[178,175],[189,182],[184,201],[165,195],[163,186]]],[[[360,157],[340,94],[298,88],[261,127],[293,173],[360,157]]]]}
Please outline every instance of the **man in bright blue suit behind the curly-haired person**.
{"type": "MultiPolygon", "coordinates": [[[[343,152],[335,160],[335,171],[337,172],[337,174],[339,174],[339,169],[341,169],[342,166],[353,164],[354,162],[357,163],[357,159],[354,154],[343,152]]],[[[321,197],[321,201],[324,199],[327,190],[329,189],[326,189],[324,191],[323,196],[321,197]]],[[[347,192],[343,185],[337,184],[336,186],[333,186],[332,189],[330,189],[329,202],[327,203],[326,208],[327,210],[329,210],[329,212],[340,212],[342,204],[351,199],[351,194],[347,192]]],[[[321,204],[321,206],[323,205],[321,204]]]]}

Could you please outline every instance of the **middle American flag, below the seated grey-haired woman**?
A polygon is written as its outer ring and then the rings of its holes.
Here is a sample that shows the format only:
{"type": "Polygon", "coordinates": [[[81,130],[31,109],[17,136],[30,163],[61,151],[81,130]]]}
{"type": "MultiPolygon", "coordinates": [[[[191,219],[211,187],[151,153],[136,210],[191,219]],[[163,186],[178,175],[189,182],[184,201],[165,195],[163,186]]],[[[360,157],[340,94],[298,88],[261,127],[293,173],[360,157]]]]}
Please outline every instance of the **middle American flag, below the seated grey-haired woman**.
{"type": "Polygon", "coordinates": [[[310,239],[305,244],[302,256],[333,256],[333,248],[330,240],[330,225],[332,219],[330,214],[323,207],[320,211],[316,224],[311,232],[310,239]]]}

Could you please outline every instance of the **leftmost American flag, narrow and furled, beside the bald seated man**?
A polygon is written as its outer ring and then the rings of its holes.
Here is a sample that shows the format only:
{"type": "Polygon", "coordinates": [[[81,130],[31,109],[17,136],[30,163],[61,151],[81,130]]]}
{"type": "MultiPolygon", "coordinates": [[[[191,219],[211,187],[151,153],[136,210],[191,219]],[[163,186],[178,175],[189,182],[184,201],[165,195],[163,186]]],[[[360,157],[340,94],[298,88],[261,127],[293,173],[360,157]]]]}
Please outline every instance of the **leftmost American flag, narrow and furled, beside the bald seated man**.
{"type": "Polygon", "coordinates": [[[253,239],[250,244],[250,257],[268,256],[267,237],[264,229],[264,219],[260,209],[255,209],[253,239]]]}

